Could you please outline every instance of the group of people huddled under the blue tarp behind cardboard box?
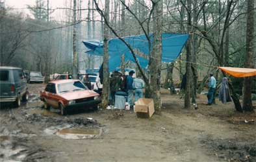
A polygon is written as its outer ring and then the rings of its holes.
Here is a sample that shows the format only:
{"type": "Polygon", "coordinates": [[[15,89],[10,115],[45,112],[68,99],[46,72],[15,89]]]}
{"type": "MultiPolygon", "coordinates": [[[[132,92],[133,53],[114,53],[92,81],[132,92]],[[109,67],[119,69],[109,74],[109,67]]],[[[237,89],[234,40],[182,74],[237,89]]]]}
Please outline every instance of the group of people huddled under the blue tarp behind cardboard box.
{"type": "Polygon", "coordinates": [[[114,104],[115,94],[120,91],[127,94],[127,102],[131,109],[134,106],[134,95],[135,101],[143,97],[144,80],[140,77],[133,78],[134,73],[134,71],[129,71],[127,76],[118,71],[112,73],[110,76],[110,104],[114,104]]]}

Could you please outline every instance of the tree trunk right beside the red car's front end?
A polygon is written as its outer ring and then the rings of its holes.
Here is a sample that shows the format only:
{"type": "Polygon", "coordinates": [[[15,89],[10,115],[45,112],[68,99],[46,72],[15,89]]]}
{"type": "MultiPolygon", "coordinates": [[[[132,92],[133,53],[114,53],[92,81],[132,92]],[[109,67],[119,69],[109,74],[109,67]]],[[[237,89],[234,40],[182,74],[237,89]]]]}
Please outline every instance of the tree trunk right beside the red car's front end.
{"type": "MultiPolygon", "coordinates": [[[[105,0],[105,23],[109,22],[109,0],[105,0]]],[[[104,25],[104,56],[103,56],[103,93],[102,108],[107,108],[109,104],[109,27],[104,25]]]]}

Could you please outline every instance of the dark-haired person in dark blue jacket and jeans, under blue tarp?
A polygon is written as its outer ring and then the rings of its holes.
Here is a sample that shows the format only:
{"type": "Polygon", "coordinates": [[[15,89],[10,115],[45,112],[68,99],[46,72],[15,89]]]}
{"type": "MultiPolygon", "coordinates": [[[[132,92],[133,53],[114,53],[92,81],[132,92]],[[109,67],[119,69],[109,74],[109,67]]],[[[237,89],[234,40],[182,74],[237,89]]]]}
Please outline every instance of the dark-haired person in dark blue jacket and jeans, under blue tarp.
{"type": "Polygon", "coordinates": [[[130,109],[133,110],[133,74],[134,71],[130,71],[129,75],[126,78],[126,88],[128,93],[127,101],[130,105],[130,109]]]}

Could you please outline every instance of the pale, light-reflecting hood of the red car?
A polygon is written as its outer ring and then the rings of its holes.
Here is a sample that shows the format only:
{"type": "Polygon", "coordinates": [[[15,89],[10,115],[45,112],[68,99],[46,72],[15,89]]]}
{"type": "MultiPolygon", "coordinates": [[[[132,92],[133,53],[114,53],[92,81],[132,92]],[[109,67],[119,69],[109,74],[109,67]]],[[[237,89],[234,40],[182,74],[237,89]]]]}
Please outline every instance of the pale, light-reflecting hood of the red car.
{"type": "Polygon", "coordinates": [[[59,95],[60,97],[65,98],[66,100],[76,100],[80,98],[98,96],[99,94],[91,90],[82,90],[82,91],[72,91],[68,93],[61,93],[59,95]]]}

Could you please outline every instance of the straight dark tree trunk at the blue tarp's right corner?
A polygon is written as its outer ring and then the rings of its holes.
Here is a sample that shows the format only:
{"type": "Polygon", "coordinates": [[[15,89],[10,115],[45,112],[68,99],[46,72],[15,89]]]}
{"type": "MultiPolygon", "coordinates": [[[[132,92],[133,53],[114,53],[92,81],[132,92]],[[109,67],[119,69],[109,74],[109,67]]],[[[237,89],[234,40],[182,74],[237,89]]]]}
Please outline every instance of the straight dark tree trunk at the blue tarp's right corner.
{"type": "MultiPolygon", "coordinates": [[[[192,2],[188,0],[187,12],[188,12],[188,27],[187,30],[191,30],[191,7],[192,2]]],[[[192,84],[192,70],[191,70],[191,36],[189,36],[186,42],[186,88],[185,88],[185,108],[190,108],[191,97],[191,84],[192,84]]]]}

